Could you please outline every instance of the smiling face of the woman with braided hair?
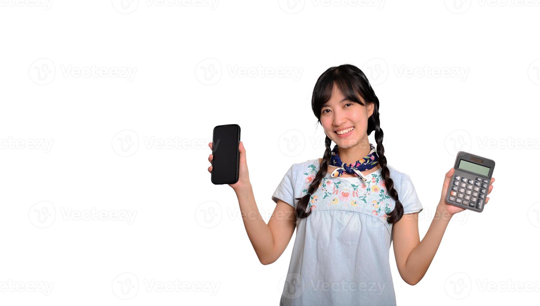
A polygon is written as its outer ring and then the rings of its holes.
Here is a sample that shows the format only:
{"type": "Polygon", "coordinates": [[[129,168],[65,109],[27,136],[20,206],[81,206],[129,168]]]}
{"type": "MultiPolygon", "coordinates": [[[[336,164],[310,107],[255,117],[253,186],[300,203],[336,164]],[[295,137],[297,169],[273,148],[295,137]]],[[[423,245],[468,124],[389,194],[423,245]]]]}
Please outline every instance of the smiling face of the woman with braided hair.
{"type": "MultiPolygon", "coordinates": [[[[366,103],[361,96],[359,99],[366,103]]],[[[372,114],[373,103],[363,106],[349,101],[334,84],[330,100],[321,108],[321,124],[326,135],[338,144],[339,148],[350,148],[362,143],[369,145],[367,128],[368,118],[372,114]]]]}

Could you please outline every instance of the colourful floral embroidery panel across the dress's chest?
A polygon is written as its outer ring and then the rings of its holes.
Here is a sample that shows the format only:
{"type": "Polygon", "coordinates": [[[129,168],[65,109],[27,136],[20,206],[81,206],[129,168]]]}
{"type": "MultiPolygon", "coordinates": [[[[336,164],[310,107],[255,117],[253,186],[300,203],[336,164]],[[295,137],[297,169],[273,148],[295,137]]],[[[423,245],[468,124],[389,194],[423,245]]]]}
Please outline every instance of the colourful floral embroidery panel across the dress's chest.
{"type": "MultiPolygon", "coordinates": [[[[303,173],[305,175],[305,189],[302,192],[305,194],[307,194],[309,185],[315,179],[317,168],[317,165],[310,164],[308,165],[308,171],[303,173]]],[[[384,184],[381,174],[371,173],[370,176],[372,176],[370,180],[365,183],[360,182],[360,184],[348,184],[339,180],[339,177],[330,178],[325,176],[321,179],[319,187],[315,191],[317,195],[311,195],[308,207],[314,210],[317,208],[315,204],[319,199],[331,197],[327,200],[327,206],[342,206],[354,208],[355,210],[369,207],[372,215],[387,220],[388,214],[390,214],[390,208],[388,207],[390,197],[386,191],[386,184],[384,184]],[[367,203],[368,197],[375,199],[371,203],[367,203]]]]}

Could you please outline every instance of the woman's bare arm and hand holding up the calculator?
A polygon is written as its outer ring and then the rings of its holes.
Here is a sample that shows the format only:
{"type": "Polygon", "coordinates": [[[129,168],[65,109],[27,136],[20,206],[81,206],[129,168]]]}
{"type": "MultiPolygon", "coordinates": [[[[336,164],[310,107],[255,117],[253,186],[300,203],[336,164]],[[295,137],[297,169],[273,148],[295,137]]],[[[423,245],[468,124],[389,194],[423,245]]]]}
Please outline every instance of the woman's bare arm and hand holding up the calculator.
{"type": "MultiPolygon", "coordinates": [[[[452,216],[465,210],[465,208],[446,203],[446,194],[453,175],[454,168],[446,173],[441,199],[437,205],[435,217],[431,221],[428,232],[422,241],[420,241],[418,232],[419,213],[404,214],[393,225],[394,255],[396,257],[397,270],[399,270],[401,278],[410,285],[418,283],[426,274],[452,216]]],[[[494,181],[495,178],[491,178],[491,184],[494,181]]],[[[493,189],[491,184],[488,194],[493,189]]],[[[488,201],[489,198],[487,197],[485,204],[488,204],[488,201]]]]}

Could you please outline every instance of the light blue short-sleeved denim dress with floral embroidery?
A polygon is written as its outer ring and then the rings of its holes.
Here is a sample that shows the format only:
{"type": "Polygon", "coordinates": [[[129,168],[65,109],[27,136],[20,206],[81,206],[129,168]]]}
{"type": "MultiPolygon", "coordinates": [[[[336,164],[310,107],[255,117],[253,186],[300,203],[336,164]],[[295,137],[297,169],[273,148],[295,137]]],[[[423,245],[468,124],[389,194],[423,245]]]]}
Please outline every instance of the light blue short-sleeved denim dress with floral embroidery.
{"type": "MultiPolygon", "coordinates": [[[[332,172],[335,168],[330,167],[332,172]]],[[[410,176],[388,165],[404,214],[423,207],[410,176]]],[[[293,207],[307,194],[319,159],[293,164],[272,195],[293,207]]],[[[389,251],[395,201],[381,169],[359,177],[323,176],[309,201],[311,215],[296,224],[280,305],[395,305],[389,251]]],[[[307,210],[306,210],[307,211],[307,210]]]]}

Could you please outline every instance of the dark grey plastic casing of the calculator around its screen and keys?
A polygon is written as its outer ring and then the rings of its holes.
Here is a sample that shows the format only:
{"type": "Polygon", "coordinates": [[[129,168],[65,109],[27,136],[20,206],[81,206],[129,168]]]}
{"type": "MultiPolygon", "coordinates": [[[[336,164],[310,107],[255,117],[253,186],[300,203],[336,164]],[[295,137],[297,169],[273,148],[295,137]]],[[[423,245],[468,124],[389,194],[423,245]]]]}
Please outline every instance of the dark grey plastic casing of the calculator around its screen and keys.
{"type": "MultiPolygon", "coordinates": [[[[459,151],[459,152],[457,152],[456,161],[454,162],[454,169],[455,169],[454,170],[454,175],[450,178],[450,184],[448,185],[448,191],[446,193],[446,203],[451,204],[451,205],[455,205],[455,206],[459,206],[459,207],[462,207],[462,208],[467,208],[468,210],[475,211],[475,212],[484,211],[485,200],[488,198],[489,186],[491,185],[491,176],[493,175],[493,170],[495,169],[495,162],[492,159],[489,159],[489,158],[477,156],[477,155],[470,154],[470,153],[464,152],[464,151],[459,151]],[[461,159],[464,159],[465,161],[468,161],[468,162],[471,162],[471,163],[475,163],[475,164],[478,164],[478,165],[489,167],[490,169],[489,169],[488,175],[483,176],[483,175],[479,175],[479,174],[474,173],[474,172],[470,172],[470,171],[467,171],[467,170],[457,168],[458,167],[458,162],[461,159]],[[479,160],[481,160],[481,162],[479,160]],[[475,178],[480,177],[480,178],[488,180],[488,186],[485,188],[485,199],[483,199],[484,204],[482,205],[481,208],[476,208],[476,206],[477,206],[476,203],[475,203],[475,206],[470,206],[470,205],[464,205],[462,203],[455,203],[454,201],[451,201],[449,199],[450,198],[450,192],[452,191],[452,184],[453,184],[453,182],[455,180],[456,175],[460,176],[460,177],[463,177],[463,176],[475,177],[475,178]]],[[[461,180],[460,180],[460,182],[461,182],[461,180]]]]}

